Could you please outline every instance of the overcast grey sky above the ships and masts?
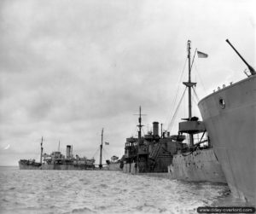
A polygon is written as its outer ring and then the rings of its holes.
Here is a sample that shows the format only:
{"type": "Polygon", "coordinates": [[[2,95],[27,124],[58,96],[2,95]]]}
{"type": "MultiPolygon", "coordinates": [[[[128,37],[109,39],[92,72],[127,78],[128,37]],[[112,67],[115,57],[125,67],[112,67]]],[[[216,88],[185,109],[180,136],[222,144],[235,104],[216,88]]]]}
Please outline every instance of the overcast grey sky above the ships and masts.
{"type": "Polygon", "coordinates": [[[38,159],[42,136],[46,153],[60,140],[62,153],[71,144],[91,158],[102,127],[104,158],[121,157],[140,105],[145,133],[153,121],[168,127],[188,78],[188,39],[192,54],[209,55],[192,71],[200,99],[246,77],[226,38],[255,67],[255,8],[254,0],[2,0],[0,165],[38,159]]]}

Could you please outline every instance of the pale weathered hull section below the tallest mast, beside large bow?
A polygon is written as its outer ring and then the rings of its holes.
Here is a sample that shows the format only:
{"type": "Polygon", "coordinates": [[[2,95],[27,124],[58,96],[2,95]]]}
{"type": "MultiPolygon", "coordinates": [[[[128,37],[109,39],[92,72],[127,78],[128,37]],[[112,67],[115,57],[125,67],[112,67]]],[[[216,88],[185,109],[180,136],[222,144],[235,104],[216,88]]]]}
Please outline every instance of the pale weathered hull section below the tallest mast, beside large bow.
{"type": "Polygon", "coordinates": [[[168,173],[171,179],[181,181],[227,183],[212,148],[175,154],[168,173]]]}

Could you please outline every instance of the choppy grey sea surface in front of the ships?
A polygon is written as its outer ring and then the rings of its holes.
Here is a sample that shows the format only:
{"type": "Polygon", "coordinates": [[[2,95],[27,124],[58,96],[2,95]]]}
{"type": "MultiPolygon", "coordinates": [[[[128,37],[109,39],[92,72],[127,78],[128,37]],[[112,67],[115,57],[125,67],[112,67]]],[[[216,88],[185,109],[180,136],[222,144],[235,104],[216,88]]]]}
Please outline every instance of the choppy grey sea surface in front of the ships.
{"type": "Polygon", "coordinates": [[[196,213],[246,205],[225,185],[120,171],[20,171],[0,167],[0,213],[196,213]]]}

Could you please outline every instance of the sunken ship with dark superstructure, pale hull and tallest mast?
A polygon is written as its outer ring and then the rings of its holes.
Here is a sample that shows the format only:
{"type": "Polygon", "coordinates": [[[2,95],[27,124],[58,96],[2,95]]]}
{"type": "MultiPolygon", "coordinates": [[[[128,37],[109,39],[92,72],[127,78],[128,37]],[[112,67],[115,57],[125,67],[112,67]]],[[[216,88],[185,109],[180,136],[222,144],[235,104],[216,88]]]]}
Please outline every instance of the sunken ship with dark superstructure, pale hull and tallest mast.
{"type": "MultiPolygon", "coordinates": [[[[139,112],[137,137],[125,142],[125,164],[123,171],[131,173],[166,173],[171,179],[189,182],[226,183],[224,172],[215,156],[207,131],[202,121],[192,117],[191,91],[196,83],[191,82],[190,41],[188,41],[189,81],[184,82],[189,89],[189,118],[179,123],[177,135],[161,130],[159,123],[153,123],[153,132],[142,136],[142,113],[139,112]],[[201,134],[199,142],[194,135],[201,134]],[[189,136],[189,145],[184,143],[189,136]]],[[[185,92],[185,91],[184,91],[185,92]]],[[[184,93],[183,93],[184,95],[184,93]]],[[[182,97],[183,99],[183,97],[182,97]]]]}

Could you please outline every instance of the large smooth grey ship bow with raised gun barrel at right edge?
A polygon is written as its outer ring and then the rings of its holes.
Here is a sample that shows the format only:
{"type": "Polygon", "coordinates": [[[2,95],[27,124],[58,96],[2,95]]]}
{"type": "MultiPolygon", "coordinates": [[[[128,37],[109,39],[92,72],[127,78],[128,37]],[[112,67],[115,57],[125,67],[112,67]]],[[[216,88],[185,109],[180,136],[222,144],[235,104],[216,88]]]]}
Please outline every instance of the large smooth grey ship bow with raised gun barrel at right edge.
{"type": "Polygon", "coordinates": [[[226,42],[247,65],[249,74],[236,84],[218,87],[198,106],[231,193],[255,205],[256,72],[226,42]]]}

